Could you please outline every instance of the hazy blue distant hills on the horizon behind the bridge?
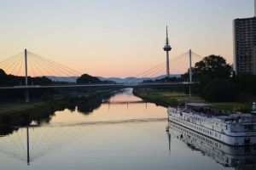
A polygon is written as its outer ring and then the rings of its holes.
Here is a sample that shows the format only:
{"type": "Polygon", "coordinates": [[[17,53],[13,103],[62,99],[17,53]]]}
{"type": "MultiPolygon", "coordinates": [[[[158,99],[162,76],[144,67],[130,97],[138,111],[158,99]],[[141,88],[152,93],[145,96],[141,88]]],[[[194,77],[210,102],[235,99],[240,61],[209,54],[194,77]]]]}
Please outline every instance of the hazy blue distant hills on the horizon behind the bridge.
{"type": "MultiPolygon", "coordinates": [[[[138,83],[143,82],[145,80],[157,80],[165,78],[166,75],[160,76],[160,77],[143,77],[143,78],[137,78],[137,77],[126,77],[126,78],[119,78],[119,77],[98,77],[101,81],[113,81],[117,83],[124,83],[124,82],[131,82],[131,83],[138,83]]],[[[170,77],[181,77],[181,75],[171,75],[170,77]]],[[[48,77],[49,79],[57,82],[76,82],[78,77],[48,77]]]]}

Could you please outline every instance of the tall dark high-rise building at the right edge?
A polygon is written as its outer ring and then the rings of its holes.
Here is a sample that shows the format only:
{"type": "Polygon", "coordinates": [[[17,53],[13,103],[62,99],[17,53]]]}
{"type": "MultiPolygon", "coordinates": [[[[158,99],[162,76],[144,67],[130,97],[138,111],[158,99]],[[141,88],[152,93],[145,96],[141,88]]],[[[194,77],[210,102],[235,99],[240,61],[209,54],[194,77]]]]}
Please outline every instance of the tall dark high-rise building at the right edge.
{"type": "MultiPolygon", "coordinates": [[[[254,0],[256,14],[256,0],[254,0]]],[[[255,15],[256,16],[256,15],[255,15]]],[[[236,74],[256,75],[256,17],[234,20],[234,69],[236,74]]]]}

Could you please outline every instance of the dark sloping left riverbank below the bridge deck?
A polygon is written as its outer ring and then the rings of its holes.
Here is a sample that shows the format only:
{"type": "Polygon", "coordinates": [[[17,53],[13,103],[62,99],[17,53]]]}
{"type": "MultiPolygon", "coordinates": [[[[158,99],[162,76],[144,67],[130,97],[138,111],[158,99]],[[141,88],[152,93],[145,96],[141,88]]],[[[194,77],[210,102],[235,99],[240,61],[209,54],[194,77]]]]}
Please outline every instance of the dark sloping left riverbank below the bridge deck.
{"type": "MultiPolygon", "coordinates": [[[[113,90],[98,90],[90,93],[53,94],[31,103],[12,102],[0,105],[0,127],[29,124],[32,121],[49,120],[55,111],[75,110],[77,105],[99,103],[113,95],[113,90]]],[[[0,129],[1,130],[1,129],[0,129]]],[[[1,132],[2,133],[2,132],[1,132]]]]}

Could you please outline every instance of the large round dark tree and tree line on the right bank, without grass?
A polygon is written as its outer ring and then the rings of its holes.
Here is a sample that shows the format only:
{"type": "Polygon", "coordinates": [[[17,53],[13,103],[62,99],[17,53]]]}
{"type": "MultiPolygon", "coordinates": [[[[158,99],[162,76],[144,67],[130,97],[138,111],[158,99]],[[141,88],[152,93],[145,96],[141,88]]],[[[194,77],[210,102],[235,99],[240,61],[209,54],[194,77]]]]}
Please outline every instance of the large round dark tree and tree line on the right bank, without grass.
{"type": "MultiPolygon", "coordinates": [[[[192,86],[193,94],[207,101],[231,102],[256,96],[256,76],[249,73],[236,75],[232,66],[222,56],[205,57],[195,63],[192,72],[193,81],[198,82],[192,86]]],[[[189,71],[181,77],[165,77],[148,82],[185,82],[188,80],[189,71]]],[[[177,88],[177,90],[180,89],[177,88]]],[[[183,91],[188,93],[189,89],[183,87],[183,91]]]]}

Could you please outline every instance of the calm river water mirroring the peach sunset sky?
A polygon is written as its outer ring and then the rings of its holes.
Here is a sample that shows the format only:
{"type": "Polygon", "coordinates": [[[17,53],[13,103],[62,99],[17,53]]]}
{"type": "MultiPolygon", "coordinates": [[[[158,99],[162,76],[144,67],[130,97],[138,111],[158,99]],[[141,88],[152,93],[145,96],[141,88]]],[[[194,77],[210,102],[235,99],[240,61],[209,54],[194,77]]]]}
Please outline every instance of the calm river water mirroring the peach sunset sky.
{"type": "Polygon", "coordinates": [[[166,111],[130,88],[89,111],[56,111],[40,126],[0,137],[0,169],[256,169],[255,148],[217,150],[181,139],[172,124],[166,132],[166,111]]]}

